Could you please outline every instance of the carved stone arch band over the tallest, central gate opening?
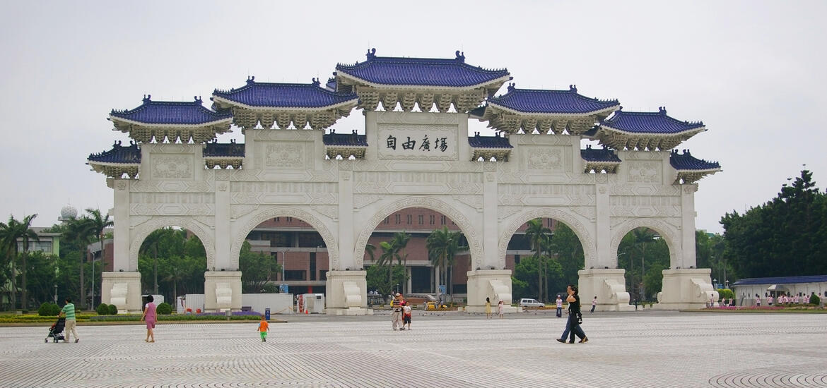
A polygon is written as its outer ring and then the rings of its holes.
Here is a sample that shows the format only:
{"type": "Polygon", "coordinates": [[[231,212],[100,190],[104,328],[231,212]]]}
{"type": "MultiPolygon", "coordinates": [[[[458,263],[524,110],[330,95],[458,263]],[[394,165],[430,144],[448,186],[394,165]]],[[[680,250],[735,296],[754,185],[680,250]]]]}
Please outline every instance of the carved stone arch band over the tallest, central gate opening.
{"type": "Polygon", "coordinates": [[[446,215],[457,226],[460,227],[462,234],[465,234],[468,240],[469,250],[471,251],[471,268],[476,267],[476,263],[482,260],[482,243],[480,242],[480,234],[474,228],[470,220],[465,215],[458,211],[457,208],[451,206],[445,201],[430,198],[428,196],[409,196],[399,201],[394,201],[377,211],[375,215],[370,217],[364,228],[361,230],[358,239],[356,239],[355,250],[353,251],[354,262],[356,269],[365,267],[365,247],[367,241],[370,239],[370,234],[373,234],[376,226],[379,225],[385,217],[394,214],[396,211],[408,209],[412,207],[423,207],[432,211],[438,211],[442,215],[446,215]]]}

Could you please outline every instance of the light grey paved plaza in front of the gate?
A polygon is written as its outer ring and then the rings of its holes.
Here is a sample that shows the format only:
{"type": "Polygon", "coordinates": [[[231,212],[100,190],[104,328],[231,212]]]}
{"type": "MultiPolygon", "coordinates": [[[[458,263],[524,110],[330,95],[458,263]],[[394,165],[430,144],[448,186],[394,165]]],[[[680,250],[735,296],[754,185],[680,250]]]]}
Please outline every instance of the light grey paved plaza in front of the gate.
{"type": "Polygon", "coordinates": [[[557,343],[564,319],[522,314],[295,316],[271,324],[0,328],[3,387],[748,387],[827,386],[827,315],[676,312],[586,315],[586,344],[557,343]]]}

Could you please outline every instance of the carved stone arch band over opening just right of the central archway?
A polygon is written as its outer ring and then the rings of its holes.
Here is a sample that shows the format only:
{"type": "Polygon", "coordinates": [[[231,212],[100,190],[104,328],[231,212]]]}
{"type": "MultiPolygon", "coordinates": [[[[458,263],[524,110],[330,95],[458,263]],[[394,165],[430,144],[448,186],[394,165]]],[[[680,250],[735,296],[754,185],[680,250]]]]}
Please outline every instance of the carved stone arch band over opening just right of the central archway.
{"type": "Polygon", "coordinates": [[[538,208],[518,215],[511,221],[511,224],[505,228],[503,234],[500,235],[500,243],[497,244],[499,248],[498,258],[500,259],[500,267],[505,267],[505,252],[508,250],[509,241],[511,237],[514,236],[514,233],[517,232],[517,229],[529,220],[542,217],[558,220],[573,230],[577,235],[577,239],[580,239],[580,244],[583,246],[585,263],[594,263],[594,260],[597,258],[597,246],[595,239],[590,233],[590,229],[587,229],[586,225],[578,220],[576,216],[565,211],[553,208],[538,208]]]}

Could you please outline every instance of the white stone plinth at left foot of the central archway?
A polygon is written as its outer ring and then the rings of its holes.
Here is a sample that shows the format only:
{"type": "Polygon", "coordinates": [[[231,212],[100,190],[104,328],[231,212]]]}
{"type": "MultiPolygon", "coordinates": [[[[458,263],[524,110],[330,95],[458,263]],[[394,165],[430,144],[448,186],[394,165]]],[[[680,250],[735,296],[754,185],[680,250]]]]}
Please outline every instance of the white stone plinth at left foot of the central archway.
{"type": "Polygon", "coordinates": [[[368,315],[366,276],[366,271],[328,271],[325,282],[325,313],[368,315]]]}

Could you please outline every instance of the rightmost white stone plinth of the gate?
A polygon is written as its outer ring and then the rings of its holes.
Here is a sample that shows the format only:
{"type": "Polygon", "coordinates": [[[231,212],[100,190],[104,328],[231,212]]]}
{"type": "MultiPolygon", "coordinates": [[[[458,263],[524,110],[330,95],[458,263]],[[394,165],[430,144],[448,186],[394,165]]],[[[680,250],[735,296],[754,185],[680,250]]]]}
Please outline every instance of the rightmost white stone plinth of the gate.
{"type": "Polygon", "coordinates": [[[657,309],[702,309],[710,299],[718,300],[710,268],[663,270],[663,286],[657,293],[657,309]]]}

